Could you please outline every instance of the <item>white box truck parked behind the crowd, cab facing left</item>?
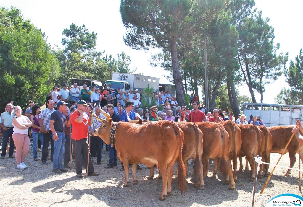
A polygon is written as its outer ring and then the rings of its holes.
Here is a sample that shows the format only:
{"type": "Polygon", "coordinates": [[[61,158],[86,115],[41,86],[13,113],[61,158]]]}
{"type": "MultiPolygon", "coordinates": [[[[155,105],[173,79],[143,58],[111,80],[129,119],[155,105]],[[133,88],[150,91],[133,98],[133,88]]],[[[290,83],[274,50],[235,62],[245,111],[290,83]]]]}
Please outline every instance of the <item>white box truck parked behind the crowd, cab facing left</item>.
{"type": "Polygon", "coordinates": [[[123,91],[144,89],[149,84],[149,87],[154,91],[159,89],[160,78],[143,76],[129,73],[112,73],[112,79],[105,82],[105,86],[111,88],[113,92],[117,92],[120,88],[123,91]]]}

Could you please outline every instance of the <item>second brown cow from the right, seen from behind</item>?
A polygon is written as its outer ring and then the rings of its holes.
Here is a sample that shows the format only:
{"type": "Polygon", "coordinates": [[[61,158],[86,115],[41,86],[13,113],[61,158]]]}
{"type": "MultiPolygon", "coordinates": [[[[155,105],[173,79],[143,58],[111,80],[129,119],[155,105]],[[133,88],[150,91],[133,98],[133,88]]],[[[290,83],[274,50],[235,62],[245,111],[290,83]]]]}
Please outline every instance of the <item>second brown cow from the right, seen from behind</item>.
{"type": "MultiPolygon", "coordinates": [[[[261,157],[262,161],[266,163],[270,163],[270,153],[272,148],[272,137],[271,133],[268,131],[268,129],[265,126],[259,126],[258,127],[262,131],[262,141],[261,141],[261,157]]],[[[268,176],[268,168],[269,165],[261,164],[262,167],[260,167],[260,170],[265,171],[264,176],[268,176]]]]}

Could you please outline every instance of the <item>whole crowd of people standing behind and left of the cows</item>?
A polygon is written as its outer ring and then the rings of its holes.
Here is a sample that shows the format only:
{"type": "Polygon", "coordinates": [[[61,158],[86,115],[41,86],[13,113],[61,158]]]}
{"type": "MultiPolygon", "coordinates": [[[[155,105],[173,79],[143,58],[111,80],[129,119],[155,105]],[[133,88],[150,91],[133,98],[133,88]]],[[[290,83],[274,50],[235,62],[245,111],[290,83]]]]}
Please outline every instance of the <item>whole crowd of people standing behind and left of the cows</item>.
{"type": "MultiPolygon", "coordinates": [[[[22,115],[22,108],[14,106],[13,101],[10,100],[0,118],[0,127],[4,130],[1,159],[5,158],[9,142],[8,157],[16,159],[17,168],[25,169],[27,166],[24,161],[30,148],[29,136],[32,136],[34,161],[42,161],[46,165],[48,160],[51,160],[54,173],[67,172],[68,170],[65,168],[70,167],[69,162],[73,149],[77,176],[82,177],[82,166],[88,167],[89,176],[98,176],[98,173],[94,171],[91,156],[97,157],[97,164],[101,165],[104,143],[101,138],[91,136],[89,148],[90,127],[93,131],[102,125],[99,119],[93,117],[93,120],[90,120],[89,112],[92,110],[101,119],[105,119],[102,111],[107,113],[114,122],[127,122],[128,117],[133,120],[147,121],[179,121],[180,119],[180,121],[218,123],[231,120],[230,115],[226,115],[221,109],[214,109],[213,112],[205,115],[206,108],[203,104],[200,107],[196,95],[193,95],[193,99],[191,99],[192,109],[179,106],[176,97],[172,97],[169,91],[166,91],[154,92],[149,101],[155,99],[155,105],[151,106],[150,110],[143,110],[140,108],[143,97],[145,97],[143,90],[140,92],[138,89],[130,90],[128,93],[118,89],[116,93],[113,93],[107,86],[100,90],[98,87],[87,87],[86,85],[80,90],[77,83],[74,83],[71,90],[68,90],[67,84],[63,84],[60,90],[55,86],[48,95],[47,108],[44,110],[30,101],[29,107],[22,115]],[[162,105],[163,110],[158,111],[159,105],[162,105]],[[125,110],[122,110],[122,107],[125,110]],[[90,121],[93,122],[93,125],[90,125],[90,121]],[[48,152],[49,144],[51,145],[50,154],[48,152]],[[42,147],[41,160],[37,155],[39,145],[42,147]],[[88,156],[88,149],[90,156],[88,156]]],[[[251,115],[249,120],[246,118],[244,114],[239,114],[235,122],[237,124],[264,125],[260,117],[251,115]]],[[[106,145],[106,150],[108,150],[109,162],[105,168],[117,166],[115,147],[106,145]]],[[[124,167],[122,165],[121,170],[124,170],[124,167]]],[[[137,168],[142,169],[139,165],[137,168]]]]}

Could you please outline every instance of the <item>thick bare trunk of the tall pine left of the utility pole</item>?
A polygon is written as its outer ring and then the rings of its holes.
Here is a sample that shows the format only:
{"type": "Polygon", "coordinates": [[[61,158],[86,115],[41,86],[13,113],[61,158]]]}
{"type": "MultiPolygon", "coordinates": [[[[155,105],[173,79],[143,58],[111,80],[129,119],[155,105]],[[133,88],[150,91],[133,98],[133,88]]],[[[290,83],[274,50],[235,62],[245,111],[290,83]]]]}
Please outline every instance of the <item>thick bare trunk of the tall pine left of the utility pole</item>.
{"type": "Polygon", "coordinates": [[[170,45],[171,45],[172,72],[176,86],[176,96],[178,100],[178,105],[182,106],[185,105],[185,99],[184,99],[184,86],[182,82],[182,76],[178,66],[177,40],[173,39],[170,45]]]}

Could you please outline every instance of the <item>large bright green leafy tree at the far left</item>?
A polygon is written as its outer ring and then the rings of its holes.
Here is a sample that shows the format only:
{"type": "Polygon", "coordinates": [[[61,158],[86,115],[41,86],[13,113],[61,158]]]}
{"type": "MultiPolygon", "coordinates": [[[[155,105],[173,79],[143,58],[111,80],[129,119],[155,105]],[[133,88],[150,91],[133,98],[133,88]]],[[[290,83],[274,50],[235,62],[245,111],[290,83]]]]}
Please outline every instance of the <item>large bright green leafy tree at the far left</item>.
{"type": "Polygon", "coordinates": [[[42,105],[58,73],[55,55],[44,34],[30,21],[23,20],[18,9],[0,10],[0,84],[1,108],[13,99],[15,105],[28,107],[28,100],[42,105]]]}

